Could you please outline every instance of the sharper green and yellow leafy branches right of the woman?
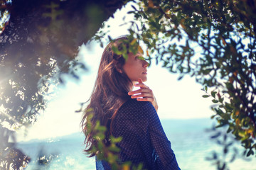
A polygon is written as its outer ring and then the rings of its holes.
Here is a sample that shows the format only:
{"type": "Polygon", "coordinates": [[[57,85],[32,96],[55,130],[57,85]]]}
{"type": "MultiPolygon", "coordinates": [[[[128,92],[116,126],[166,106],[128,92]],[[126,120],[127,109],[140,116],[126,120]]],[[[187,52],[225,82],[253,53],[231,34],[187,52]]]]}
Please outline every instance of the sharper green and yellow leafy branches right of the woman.
{"type": "MultiPolygon", "coordinates": [[[[137,1],[129,37],[145,44],[155,61],[178,79],[189,75],[213,101],[216,127],[227,126],[256,152],[256,1],[137,1]],[[208,91],[208,89],[213,89],[208,91]]],[[[98,33],[102,40],[107,33],[98,33]]],[[[110,39],[112,39],[109,36],[110,39]]],[[[132,42],[132,41],[130,41],[132,42]]]]}

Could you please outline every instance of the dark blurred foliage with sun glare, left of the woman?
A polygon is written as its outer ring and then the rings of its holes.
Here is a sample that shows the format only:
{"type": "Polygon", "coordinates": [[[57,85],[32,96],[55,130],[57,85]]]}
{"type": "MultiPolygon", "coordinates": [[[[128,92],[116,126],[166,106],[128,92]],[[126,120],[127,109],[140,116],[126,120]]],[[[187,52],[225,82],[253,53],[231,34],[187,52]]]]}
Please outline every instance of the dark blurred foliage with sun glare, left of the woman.
{"type": "Polygon", "coordinates": [[[28,164],[26,155],[16,154],[15,130],[36,121],[63,74],[79,79],[87,70],[76,58],[80,45],[123,5],[121,0],[0,0],[0,168],[28,164]]]}

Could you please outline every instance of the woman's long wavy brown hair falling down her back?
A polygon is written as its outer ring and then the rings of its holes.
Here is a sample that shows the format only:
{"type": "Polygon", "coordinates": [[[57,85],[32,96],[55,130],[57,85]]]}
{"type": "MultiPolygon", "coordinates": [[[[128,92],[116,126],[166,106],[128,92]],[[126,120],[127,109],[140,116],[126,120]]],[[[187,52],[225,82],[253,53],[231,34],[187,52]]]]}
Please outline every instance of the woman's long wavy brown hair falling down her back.
{"type": "MultiPolygon", "coordinates": [[[[112,120],[122,104],[130,98],[128,92],[132,86],[132,81],[123,70],[125,59],[122,55],[117,55],[112,50],[114,45],[121,51],[122,47],[124,47],[122,40],[127,40],[127,38],[117,38],[105,47],[92,96],[89,99],[90,103],[85,108],[85,113],[82,117],[81,125],[82,131],[85,133],[85,152],[90,154],[89,157],[95,156],[90,151],[93,145],[96,145],[96,141],[93,139],[94,132],[87,127],[89,116],[92,115],[90,119],[92,127],[90,128],[93,129],[96,121],[100,120],[100,125],[104,125],[107,128],[105,136],[106,140],[108,140],[107,137],[109,137],[112,129],[112,120]]],[[[127,45],[126,49],[128,49],[127,45]]]]}

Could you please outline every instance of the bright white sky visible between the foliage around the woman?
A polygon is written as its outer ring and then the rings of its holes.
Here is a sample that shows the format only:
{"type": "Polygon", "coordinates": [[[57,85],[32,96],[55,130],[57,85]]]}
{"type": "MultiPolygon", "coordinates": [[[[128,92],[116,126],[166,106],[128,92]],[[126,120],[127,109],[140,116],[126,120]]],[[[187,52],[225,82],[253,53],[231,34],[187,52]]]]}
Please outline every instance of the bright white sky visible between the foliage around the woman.
{"type": "MultiPolygon", "coordinates": [[[[128,33],[127,26],[120,27],[119,24],[122,23],[123,16],[126,16],[127,20],[132,19],[132,16],[127,14],[129,9],[128,4],[117,10],[114,18],[107,21],[106,25],[110,25],[112,38],[128,33]]],[[[78,60],[85,62],[89,70],[81,74],[80,81],[66,77],[66,84],[58,86],[54,98],[49,101],[46,111],[38,117],[37,122],[30,128],[22,128],[18,131],[18,141],[81,132],[82,114],[75,111],[80,108],[81,102],[90,98],[103,50],[95,42],[80,47],[78,60]]],[[[148,68],[147,77],[145,84],[156,96],[161,120],[210,118],[210,115],[213,115],[213,111],[210,110],[211,101],[202,97],[205,94],[201,91],[203,86],[197,84],[193,77],[185,76],[178,81],[177,74],[171,74],[167,69],[162,68],[161,64],[156,65],[154,62],[148,68]]]]}

